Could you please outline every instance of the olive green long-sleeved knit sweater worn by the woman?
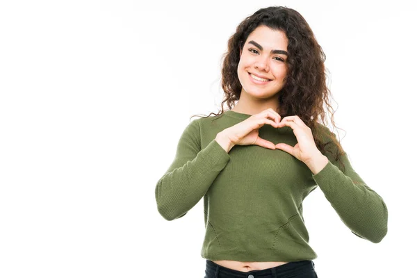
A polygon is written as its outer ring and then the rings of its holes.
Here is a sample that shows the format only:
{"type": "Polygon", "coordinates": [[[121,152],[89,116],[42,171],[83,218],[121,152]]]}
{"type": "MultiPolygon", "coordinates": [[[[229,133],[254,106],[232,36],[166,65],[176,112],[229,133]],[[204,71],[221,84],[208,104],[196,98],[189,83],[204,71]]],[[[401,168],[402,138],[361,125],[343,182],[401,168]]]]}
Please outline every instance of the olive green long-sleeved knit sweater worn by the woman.
{"type": "MultiPolygon", "coordinates": [[[[347,154],[341,158],[344,172],[324,153],[329,163],[313,174],[302,161],[280,149],[235,145],[227,153],[214,140],[220,131],[250,116],[226,111],[190,122],[179,139],[174,161],[156,184],[158,211],[166,220],[183,217],[204,197],[204,259],[316,259],[309,246],[302,201],[317,187],[352,233],[373,243],[384,238],[386,204],[353,170],[347,154]]],[[[259,136],[274,144],[297,144],[289,126],[265,124],[259,136]]]]}

